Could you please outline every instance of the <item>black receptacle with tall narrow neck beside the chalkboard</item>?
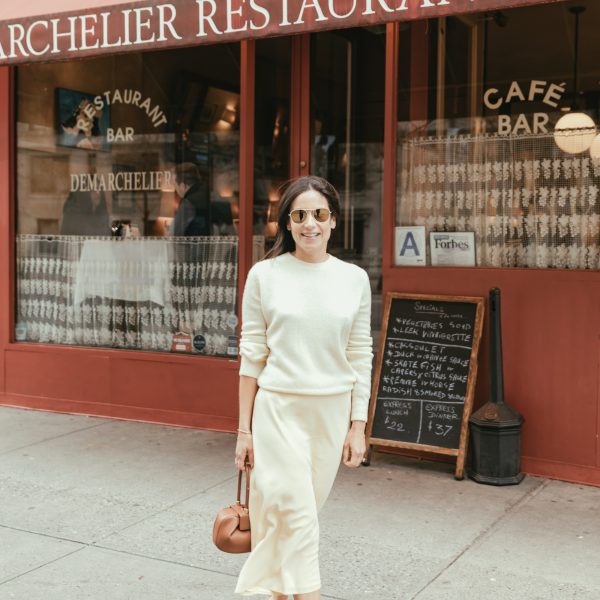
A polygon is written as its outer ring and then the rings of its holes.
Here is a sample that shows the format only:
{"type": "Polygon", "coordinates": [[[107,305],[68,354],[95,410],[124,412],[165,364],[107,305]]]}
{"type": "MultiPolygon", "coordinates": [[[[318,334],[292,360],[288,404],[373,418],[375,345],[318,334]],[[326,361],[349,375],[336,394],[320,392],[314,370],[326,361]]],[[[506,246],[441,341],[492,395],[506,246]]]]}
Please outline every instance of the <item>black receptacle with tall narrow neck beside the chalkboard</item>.
{"type": "Polygon", "coordinates": [[[521,473],[523,417],[504,402],[500,290],[490,290],[490,399],[469,419],[471,466],[467,473],[479,483],[513,485],[521,473]]]}

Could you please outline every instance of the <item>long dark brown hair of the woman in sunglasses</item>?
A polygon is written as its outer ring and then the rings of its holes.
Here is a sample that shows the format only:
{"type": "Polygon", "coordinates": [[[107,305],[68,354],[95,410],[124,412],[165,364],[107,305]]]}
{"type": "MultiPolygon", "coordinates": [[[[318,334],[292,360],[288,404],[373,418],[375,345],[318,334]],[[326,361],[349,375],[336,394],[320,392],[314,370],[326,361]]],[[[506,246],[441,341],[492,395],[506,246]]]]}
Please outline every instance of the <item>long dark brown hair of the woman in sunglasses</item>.
{"type": "Polygon", "coordinates": [[[281,188],[282,194],[279,201],[279,216],[277,218],[277,235],[273,247],[267,252],[265,258],[275,258],[286,252],[293,252],[296,249],[296,242],[292,237],[292,232],[288,230],[287,224],[292,202],[304,192],[312,190],[321,194],[326,200],[329,210],[333,216],[339,218],[340,214],[340,196],[337,190],[322,177],[316,175],[307,175],[288,181],[281,188]]]}

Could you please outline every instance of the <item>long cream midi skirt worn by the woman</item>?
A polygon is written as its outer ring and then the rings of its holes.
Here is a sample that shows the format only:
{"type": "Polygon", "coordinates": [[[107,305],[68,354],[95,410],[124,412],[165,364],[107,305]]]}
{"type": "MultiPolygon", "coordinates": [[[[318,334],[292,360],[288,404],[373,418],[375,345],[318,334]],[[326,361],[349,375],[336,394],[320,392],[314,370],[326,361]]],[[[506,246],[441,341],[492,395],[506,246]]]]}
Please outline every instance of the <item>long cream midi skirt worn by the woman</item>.
{"type": "Polygon", "coordinates": [[[252,552],[236,593],[306,594],[321,588],[319,522],[350,425],[350,392],[299,396],[259,389],[252,432],[252,552]]]}

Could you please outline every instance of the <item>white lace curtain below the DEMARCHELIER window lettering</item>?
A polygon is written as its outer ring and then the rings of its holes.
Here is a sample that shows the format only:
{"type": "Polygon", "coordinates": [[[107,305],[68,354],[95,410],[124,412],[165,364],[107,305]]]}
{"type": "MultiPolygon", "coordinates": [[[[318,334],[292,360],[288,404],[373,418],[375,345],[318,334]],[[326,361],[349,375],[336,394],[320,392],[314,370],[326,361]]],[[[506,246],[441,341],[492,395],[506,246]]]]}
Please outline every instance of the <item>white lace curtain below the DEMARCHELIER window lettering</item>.
{"type": "Polygon", "coordinates": [[[236,236],[19,235],[17,339],[170,351],[184,331],[204,336],[203,354],[226,356],[237,265],[236,236]]]}

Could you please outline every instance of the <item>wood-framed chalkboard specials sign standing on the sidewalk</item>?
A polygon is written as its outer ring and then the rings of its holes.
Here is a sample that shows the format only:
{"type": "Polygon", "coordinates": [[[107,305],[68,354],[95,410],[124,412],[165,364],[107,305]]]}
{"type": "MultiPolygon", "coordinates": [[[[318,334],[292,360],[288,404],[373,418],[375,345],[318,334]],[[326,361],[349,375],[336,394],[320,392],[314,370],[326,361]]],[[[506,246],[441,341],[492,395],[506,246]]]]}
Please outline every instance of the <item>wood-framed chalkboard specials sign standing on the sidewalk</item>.
{"type": "Polygon", "coordinates": [[[387,295],[369,444],[456,456],[463,478],[482,327],[483,298],[387,295]]]}

